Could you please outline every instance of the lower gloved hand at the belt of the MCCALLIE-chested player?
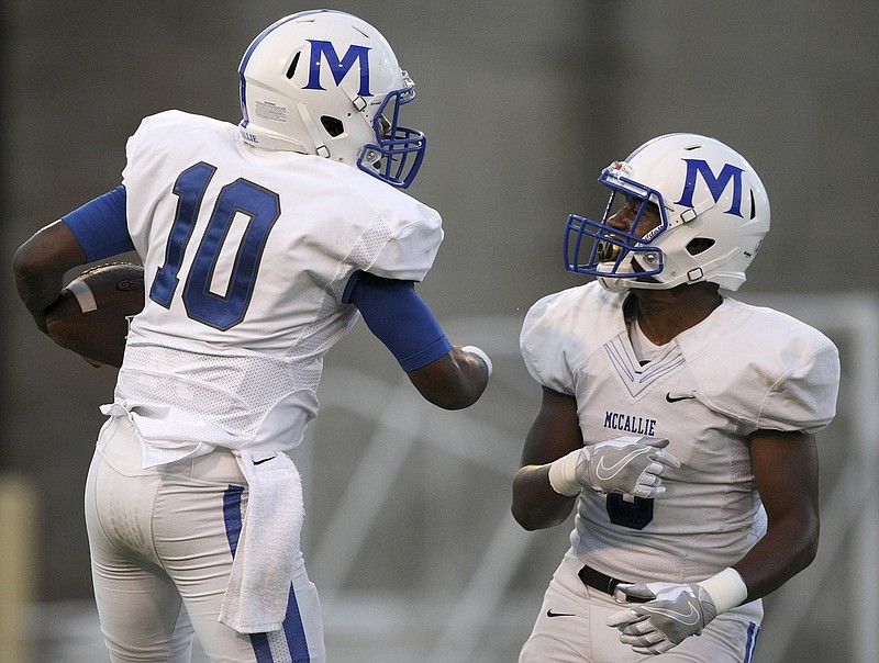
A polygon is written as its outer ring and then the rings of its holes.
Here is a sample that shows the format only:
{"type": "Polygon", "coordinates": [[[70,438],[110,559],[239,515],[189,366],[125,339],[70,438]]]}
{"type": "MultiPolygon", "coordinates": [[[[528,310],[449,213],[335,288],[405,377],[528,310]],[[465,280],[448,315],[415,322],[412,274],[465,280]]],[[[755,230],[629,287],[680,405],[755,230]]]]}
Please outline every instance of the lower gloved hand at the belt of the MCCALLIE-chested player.
{"type": "Polygon", "coordinates": [[[717,616],[711,595],[698,584],[621,584],[619,602],[638,602],[611,615],[608,626],[620,630],[620,642],[639,654],[661,654],[690,636],[698,636],[717,616]],[[646,602],[646,603],[641,603],[646,602]]]}

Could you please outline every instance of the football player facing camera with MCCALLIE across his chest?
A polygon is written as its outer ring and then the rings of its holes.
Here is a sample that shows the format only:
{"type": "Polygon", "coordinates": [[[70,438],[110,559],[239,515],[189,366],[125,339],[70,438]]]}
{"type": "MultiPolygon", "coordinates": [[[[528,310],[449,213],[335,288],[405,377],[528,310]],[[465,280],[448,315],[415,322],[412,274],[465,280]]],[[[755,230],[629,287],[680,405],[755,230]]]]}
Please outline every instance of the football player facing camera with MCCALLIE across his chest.
{"type": "Polygon", "coordinates": [[[520,339],[543,398],[512,512],[533,530],[576,509],[520,662],[750,661],[760,597],[815,555],[838,353],[721,292],[769,229],[735,150],[665,135],[599,182],[603,217],[565,235],[567,269],[596,279],[539,300],[520,339]]]}

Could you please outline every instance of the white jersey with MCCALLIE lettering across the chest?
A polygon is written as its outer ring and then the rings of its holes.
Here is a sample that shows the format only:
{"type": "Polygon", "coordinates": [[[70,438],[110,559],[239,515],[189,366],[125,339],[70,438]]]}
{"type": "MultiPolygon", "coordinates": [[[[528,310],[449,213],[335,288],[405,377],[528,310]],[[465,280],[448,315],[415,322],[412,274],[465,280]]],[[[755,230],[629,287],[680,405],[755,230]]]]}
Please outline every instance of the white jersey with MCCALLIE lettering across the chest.
{"type": "Polygon", "coordinates": [[[765,530],[748,436],[825,427],[838,353],[816,329],[726,297],[642,366],[625,296],[591,282],[542,299],[525,318],[522,355],[537,382],[577,398],[587,445],[665,437],[682,463],[655,499],[583,490],[577,557],[624,581],[696,582],[738,561],[765,530]]]}

